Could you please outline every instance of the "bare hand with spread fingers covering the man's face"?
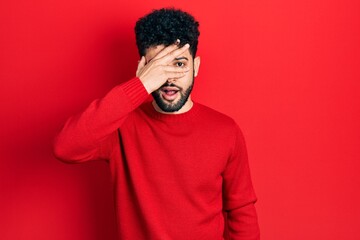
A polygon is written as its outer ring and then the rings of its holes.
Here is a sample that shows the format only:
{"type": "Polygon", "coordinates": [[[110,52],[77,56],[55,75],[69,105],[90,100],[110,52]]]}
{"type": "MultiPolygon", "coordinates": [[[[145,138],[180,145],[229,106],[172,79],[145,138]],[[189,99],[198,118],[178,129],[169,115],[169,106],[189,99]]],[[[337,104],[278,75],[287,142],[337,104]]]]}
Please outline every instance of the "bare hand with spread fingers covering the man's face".
{"type": "Polygon", "coordinates": [[[185,44],[179,48],[177,44],[173,44],[165,47],[147,64],[145,64],[145,57],[141,57],[136,76],[144,84],[149,94],[161,87],[168,79],[181,78],[186,75],[190,70],[188,67],[179,68],[170,63],[184,53],[189,46],[189,44],[185,44]]]}

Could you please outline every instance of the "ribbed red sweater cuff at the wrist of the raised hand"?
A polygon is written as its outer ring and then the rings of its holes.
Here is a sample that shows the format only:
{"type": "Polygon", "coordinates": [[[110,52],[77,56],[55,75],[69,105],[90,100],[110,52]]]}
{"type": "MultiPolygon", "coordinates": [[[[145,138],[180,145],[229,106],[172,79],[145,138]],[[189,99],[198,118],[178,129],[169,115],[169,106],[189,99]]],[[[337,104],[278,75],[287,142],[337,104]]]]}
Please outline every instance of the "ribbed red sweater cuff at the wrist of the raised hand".
{"type": "Polygon", "coordinates": [[[122,89],[129,97],[133,109],[137,108],[141,103],[143,103],[149,95],[146,91],[146,88],[144,87],[144,84],[138,77],[123,83],[122,89]]]}

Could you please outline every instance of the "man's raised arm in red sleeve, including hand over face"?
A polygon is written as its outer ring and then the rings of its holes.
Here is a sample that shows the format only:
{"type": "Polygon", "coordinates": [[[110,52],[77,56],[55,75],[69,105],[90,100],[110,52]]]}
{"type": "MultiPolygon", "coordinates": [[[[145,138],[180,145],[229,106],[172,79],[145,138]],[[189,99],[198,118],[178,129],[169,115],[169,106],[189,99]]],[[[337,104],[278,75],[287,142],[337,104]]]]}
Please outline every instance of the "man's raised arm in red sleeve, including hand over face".
{"type": "Polygon", "coordinates": [[[137,77],[114,87],[104,98],[94,100],[81,114],[68,119],[55,139],[56,157],[67,162],[106,158],[102,154],[105,139],[121,126],[129,113],[167,79],[182,77],[189,71],[187,68],[169,65],[188,47],[188,44],[181,48],[176,44],[170,45],[148,64],[145,64],[145,57],[142,57],[137,77]]]}

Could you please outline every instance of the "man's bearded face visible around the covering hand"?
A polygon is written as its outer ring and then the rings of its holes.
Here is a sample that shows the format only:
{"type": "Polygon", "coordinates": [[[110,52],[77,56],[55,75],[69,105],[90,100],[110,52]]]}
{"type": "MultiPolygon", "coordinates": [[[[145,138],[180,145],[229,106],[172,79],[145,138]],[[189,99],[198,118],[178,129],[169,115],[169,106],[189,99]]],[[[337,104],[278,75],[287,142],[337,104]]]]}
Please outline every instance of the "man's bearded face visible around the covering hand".
{"type": "MultiPolygon", "coordinates": [[[[148,48],[145,54],[146,62],[149,62],[164,48],[163,45],[148,48]]],[[[194,85],[194,77],[197,76],[200,58],[193,59],[189,50],[174,59],[173,66],[183,68],[189,67],[190,71],[184,77],[168,79],[158,90],[152,93],[157,106],[164,112],[177,112],[184,106],[191,104],[191,90],[194,85]]]]}

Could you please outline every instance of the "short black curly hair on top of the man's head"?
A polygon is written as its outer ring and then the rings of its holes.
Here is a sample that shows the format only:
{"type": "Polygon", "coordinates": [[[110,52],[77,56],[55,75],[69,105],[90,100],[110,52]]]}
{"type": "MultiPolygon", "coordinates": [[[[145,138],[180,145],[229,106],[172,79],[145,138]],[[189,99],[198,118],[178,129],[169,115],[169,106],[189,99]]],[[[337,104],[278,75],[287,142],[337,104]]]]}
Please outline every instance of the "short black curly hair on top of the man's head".
{"type": "Polygon", "coordinates": [[[140,56],[144,56],[149,47],[169,46],[180,39],[180,47],[190,44],[189,51],[194,58],[200,35],[199,22],[180,9],[162,8],[140,18],[135,25],[135,35],[140,56]]]}

